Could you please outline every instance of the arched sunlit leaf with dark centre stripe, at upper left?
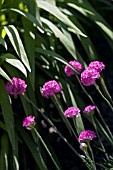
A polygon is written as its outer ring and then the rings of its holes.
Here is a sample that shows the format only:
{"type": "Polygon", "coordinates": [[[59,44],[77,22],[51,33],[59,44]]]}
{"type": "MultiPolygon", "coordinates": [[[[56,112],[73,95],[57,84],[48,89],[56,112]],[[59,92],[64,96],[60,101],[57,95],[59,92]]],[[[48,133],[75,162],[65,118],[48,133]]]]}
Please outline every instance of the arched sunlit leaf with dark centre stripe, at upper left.
{"type": "Polygon", "coordinates": [[[29,61],[24,49],[24,46],[22,44],[22,41],[20,39],[19,33],[16,29],[16,27],[14,27],[13,25],[10,26],[5,26],[5,31],[17,53],[17,55],[21,58],[22,62],[25,64],[25,66],[27,67],[27,69],[29,70],[29,72],[31,72],[31,68],[29,65],[29,61]]]}

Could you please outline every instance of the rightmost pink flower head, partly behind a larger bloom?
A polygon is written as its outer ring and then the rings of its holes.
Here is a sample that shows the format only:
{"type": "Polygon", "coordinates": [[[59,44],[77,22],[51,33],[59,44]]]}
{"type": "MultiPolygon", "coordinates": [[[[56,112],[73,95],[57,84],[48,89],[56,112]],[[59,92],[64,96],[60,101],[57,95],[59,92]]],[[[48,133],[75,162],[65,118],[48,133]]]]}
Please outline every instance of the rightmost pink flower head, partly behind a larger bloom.
{"type": "Polygon", "coordinates": [[[100,61],[93,61],[89,64],[89,68],[94,68],[98,72],[101,72],[103,69],[105,69],[105,65],[100,61]]]}

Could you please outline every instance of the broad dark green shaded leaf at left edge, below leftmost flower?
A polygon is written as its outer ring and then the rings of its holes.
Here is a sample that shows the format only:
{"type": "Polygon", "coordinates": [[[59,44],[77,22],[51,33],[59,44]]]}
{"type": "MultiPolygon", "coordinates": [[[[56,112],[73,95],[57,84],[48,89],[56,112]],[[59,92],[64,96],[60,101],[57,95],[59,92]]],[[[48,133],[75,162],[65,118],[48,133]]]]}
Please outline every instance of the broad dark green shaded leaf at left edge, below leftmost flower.
{"type": "Polygon", "coordinates": [[[0,104],[1,104],[2,114],[9,135],[9,139],[11,141],[13,149],[15,149],[15,126],[14,126],[13,111],[12,111],[8,94],[6,92],[5,84],[1,79],[0,79],[0,84],[2,87],[0,89],[0,104]]]}

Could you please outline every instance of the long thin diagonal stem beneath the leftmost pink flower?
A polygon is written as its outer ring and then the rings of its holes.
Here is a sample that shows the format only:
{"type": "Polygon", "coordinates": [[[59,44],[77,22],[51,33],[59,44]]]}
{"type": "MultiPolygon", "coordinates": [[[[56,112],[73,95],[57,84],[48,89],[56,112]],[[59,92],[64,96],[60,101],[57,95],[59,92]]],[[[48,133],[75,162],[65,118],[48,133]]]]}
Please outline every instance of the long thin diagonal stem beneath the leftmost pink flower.
{"type": "Polygon", "coordinates": [[[72,147],[72,145],[67,141],[65,137],[60,133],[60,131],[56,128],[53,122],[24,94],[25,99],[32,104],[32,106],[45,118],[45,120],[54,128],[55,132],[61,137],[61,139],[70,147],[70,149],[78,156],[88,167],[88,162],[72,147]]]}

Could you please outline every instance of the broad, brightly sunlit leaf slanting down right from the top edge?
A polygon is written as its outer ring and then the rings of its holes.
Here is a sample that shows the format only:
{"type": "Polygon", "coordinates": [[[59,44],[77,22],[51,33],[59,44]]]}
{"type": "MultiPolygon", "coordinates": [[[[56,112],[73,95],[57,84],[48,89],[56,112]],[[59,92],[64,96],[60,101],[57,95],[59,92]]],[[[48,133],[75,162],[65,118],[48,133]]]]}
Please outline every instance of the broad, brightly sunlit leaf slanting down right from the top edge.
{"type": "Polygon", "coordinates": [[[70,20],[69,18],[63,14],[56,6],[51,5],[50,3],[46,1],[36,1],[39,8],[42,8],[49,13],[53,14],[56,18],[58,18],[60,21],[68,25],[69,27],[73,28],[75,30],[75,33],[81,36],[86,37],[85,34],[83,34],[70,20]]]}

